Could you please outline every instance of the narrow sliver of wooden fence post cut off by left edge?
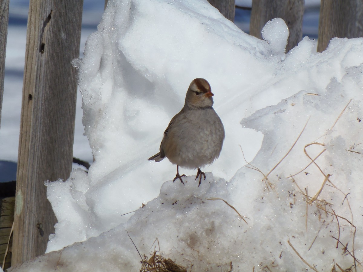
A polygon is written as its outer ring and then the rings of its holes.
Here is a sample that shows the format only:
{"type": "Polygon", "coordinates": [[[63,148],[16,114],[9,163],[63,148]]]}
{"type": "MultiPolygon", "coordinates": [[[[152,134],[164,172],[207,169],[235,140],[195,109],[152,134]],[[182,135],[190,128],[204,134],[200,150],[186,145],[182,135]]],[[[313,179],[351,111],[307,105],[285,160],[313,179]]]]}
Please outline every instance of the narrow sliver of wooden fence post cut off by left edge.
{"type": "Polygon", "coordinates": [[[9,0],[0,0],[0,122],[1,108],[3,106],[5,51],[8,36],[9,0]]]}

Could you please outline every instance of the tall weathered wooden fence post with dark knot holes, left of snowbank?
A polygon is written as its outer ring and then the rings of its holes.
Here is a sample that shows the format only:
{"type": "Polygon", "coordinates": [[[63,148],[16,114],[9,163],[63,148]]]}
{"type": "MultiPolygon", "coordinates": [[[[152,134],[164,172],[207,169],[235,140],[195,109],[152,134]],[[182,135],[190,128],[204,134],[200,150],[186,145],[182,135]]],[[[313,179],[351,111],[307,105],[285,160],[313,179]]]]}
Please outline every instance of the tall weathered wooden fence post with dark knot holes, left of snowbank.
{"type": "Polygon", "coordinates": [[[72,170],[83,0],[30,0],[12,266],[44,254],[56,217],[46,180],[72,170]]]}

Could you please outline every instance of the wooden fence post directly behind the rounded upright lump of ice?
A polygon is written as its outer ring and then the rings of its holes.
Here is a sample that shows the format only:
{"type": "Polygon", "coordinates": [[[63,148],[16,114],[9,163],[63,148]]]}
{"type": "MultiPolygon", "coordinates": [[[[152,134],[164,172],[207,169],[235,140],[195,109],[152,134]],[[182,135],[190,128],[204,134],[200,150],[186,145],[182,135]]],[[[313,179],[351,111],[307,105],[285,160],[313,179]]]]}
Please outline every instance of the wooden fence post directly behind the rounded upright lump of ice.
{"type": "Polygon", "coordinates": [[[290,51],[302,39],[304,4],[305,0],[252,0],[250,35],[262,39],[266,22],[280,17],[289,27],[286,51],[290,51]]]}

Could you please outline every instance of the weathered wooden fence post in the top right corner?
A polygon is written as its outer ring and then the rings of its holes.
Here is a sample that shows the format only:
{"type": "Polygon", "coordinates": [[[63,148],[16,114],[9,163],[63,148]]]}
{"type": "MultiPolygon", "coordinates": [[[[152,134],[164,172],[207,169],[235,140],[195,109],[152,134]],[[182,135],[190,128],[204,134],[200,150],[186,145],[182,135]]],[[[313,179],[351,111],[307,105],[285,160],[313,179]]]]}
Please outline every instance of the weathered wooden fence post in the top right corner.
{"type": "Polygon", "coordinates": [[[363,1],[321,0],[318,32],[318,52],[331,38],[363,37],[363,1]]]}

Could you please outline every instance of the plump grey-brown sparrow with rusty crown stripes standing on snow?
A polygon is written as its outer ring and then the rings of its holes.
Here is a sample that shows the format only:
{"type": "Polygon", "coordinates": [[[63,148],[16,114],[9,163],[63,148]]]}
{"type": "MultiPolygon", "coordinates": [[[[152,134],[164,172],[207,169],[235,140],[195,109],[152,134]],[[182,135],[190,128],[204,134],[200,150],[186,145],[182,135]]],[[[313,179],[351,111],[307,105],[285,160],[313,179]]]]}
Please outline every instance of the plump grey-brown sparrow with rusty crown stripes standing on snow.
{"type": "MultiPolygon", "coordinates": [[[[149,161],[162,161],[167,157],[176,164],[176,176],[179,178],[179,166],[198,169],[195,180],[199,177],[201,184],[205,173],[203,166],[212,164],[221,153],[225,137],[224,126],[213,109],[211,85],[204,78],[196,78],[190,83],[185,95],[184,107],[170,121],[164,131],[160,152],[148,158],[149,161]]],[[[184,184],[185,185],[185,184],[184,184]]]]}

